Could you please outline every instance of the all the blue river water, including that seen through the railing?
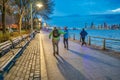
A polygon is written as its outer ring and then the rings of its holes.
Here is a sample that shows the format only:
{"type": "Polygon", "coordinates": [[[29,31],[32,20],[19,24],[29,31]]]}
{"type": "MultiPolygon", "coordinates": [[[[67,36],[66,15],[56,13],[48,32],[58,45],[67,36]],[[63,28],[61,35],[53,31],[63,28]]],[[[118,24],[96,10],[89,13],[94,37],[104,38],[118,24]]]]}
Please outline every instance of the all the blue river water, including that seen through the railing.
{"type": "MultiPolygon", "coordinates": [[[[111,50],[120,51],[120,30],[86,30],[88,35],[86,37],[86,42],[88,42],[88,36],[102,37],[117,39],[115,40],[106,40],[106,47],[111,50]]],[[[73,38],[75,34],[75,39],[80,40],[81,30],[69,30],[70,37],[73,38]]],[[[91,44],[97,46],[103,46],[103,39],[100,38],[91,38],[91,44]]]]}

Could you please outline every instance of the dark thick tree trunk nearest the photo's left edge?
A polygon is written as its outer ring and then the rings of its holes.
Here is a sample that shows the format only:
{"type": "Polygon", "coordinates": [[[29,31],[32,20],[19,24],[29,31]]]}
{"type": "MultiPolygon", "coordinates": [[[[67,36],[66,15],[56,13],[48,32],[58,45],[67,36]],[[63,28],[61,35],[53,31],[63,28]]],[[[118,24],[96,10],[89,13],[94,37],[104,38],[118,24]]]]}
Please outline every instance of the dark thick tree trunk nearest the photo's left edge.
{"type": "Polygon", "coordinates": [[[5,0],[3,0],[3,12],[2,12],[2,28],[3,28],[3,34],[6,33],[6,7],[5,7],[5,0]]]}

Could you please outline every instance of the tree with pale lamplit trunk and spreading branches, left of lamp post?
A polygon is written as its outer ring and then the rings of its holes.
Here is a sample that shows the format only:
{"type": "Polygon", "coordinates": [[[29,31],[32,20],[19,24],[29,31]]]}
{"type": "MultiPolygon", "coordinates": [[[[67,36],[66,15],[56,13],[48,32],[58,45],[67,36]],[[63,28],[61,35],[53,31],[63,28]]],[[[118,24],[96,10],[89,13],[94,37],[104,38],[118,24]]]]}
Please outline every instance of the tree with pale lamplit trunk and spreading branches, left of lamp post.
{"type": "Polygon", "coordinates": [[[25,14],[25,8],[28,6],[30,0],[10,0],[11,5],[14,8],[14,16],[19,27],[19,33],[21,34],[22,19],[25,14]]]}

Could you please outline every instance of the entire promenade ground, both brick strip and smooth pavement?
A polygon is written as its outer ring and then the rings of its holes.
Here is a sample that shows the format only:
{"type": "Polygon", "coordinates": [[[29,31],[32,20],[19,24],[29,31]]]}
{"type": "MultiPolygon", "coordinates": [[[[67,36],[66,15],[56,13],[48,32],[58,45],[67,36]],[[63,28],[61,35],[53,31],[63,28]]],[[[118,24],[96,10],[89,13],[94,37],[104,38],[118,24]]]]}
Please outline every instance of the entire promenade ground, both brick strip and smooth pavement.
{"type": "Polygon", "coordinates": [[[54,57],[48,33],[41,32],[5,80],[120,80],[120,59],[72,41],[69,50],[64,49],[62,39],[59,46],[60,55],[54,57]]]}

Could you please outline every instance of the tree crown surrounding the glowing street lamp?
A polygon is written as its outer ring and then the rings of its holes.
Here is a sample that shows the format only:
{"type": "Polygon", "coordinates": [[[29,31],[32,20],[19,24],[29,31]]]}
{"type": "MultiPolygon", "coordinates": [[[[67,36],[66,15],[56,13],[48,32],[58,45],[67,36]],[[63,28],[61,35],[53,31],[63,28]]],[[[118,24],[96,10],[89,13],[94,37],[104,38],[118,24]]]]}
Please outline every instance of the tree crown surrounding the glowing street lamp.
{"type": "MultiPolygon", "coordinates": [[[[35,18],[39,18],[42,17],[42,19],[46,20],[46,19],[50,19],[49,15],[52,14],[53,11],[53,6],[54,6],[54,2],[52,0],[32,0],[32,14],[33,14],[33,19],[35,18]],[[37,4],[41,3],[43,5],[42,8],[39,8],[38,6],[36,6],[37,4]]],[[[30,22],[30,18],[31,18],[31,14],[30,14],[30,5],[28,5],[25,9],[26,13],[24,15],[24,21],[30,22]],[[29,8],[29,9],[28,9],[29,8]]]]}

